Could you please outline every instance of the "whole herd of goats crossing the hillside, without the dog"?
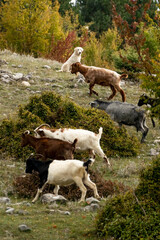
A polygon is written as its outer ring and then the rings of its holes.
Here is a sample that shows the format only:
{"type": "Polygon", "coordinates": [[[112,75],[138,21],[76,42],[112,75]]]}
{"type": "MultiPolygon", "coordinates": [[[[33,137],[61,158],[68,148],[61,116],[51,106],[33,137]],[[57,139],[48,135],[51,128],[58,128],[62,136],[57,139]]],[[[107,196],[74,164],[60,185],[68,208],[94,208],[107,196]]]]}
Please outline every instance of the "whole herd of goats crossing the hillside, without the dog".
{"type": "MultiPolygon", "coordinates": [[[[90,105],[93,108],[104,110],[119,126],[124,124],[136,127],[137,131],[142,132],[141,143],[144,142],[148,133],[148,127],[146,125],[145,111],[139,106],[146,104],[154,107],[158,104],[157,99],[143,94],[139,99],[138,106],[125,102],[125,92],[120,87],[120,81],[122,78],[128,77],[126,74],[120,75],[108,69],[88,67],[80,62],[71,64],[71,73],[81,73],[84,76],[85,81],[89,83],[90,95],[92,93],[98,95],[93,90],[95,84],[110,87],[112,94],[108,100],[111,100],[116,95],[116,92],[119,91],[122,96],[122,102],[95,100],[90,105]]],[[[155,127],[153,116],[151,116],[151,120],[153,127],[155,127]]],[[[25,131],[22,134],[21,146],[30,145],[36,152],[36,155],[31,155],[26,161],[26,173],[32,173],[34,170],[39,173],[40,177],[40,185],[32,202],[38,199],[47,183],[55,185],[55,195],[58,195],[59,186],[68,186],[76,183],[81,190],[79,202],[85,201],[87,192],[85,185],[93,190],[96,198],[100,198],[96,184],[90,180],[88,167],[94,162],[95,154],[103,158],[108,167],[111,166],[109,159],[100,146],[102,131],[102,127],[100,127],[97,134],[84,129],[52,129],[49,125],[42,124],[34,130],[34,136],[29,131],[25,131]],[[83,162],[73,159],[76,150],[88,150],[88,161],[83,162]]]]}

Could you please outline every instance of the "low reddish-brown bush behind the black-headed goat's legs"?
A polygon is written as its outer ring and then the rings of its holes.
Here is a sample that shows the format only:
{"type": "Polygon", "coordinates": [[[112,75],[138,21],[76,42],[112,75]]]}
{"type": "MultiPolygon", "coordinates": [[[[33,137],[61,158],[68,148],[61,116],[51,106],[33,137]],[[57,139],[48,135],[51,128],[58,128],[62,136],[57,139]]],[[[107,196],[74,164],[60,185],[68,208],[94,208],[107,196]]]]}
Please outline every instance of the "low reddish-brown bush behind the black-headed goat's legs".
{"type": "MultiPolygon", "coordinates": [[[[90,178],[96,183],[98,193],[101,197],[107,197],[108,195],[125,192],[127,190],[127,187],[121,183],[104,180],[98,172],[90,171],[90,178]]],[[[36,195],[38,185],[39,176],[37,172],[15,177],[13,181],[13,188],[19,197],[33,198],[36,195]]],[[[53,185],[47,185],[43,193],[53,193],[53,190],[53,185]]],[[[59,194],[72,201],[79,200],[81,197],[81,191],[76,184],[60,187],[59,194]]],[[[87,187],[86,196],[93,196],[93,190],[87,187]]]]}

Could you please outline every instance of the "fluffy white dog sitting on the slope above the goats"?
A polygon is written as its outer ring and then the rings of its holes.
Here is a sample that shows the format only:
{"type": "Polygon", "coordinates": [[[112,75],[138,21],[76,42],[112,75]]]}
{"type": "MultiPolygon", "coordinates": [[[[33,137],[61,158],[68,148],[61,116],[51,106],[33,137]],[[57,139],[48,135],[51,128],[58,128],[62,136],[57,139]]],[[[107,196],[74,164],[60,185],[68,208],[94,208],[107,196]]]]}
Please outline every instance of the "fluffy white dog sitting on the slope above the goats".
{"type": "Polygon", "coordinates": [[[70,58],[63,63],[61,70],[58,72],[70,72],[71,65],[76,62],[81,62],[81,54],[83,52],[83,48],[81,47],[76,47],[74,49],[73,54],[70,56],[70,58]]]}

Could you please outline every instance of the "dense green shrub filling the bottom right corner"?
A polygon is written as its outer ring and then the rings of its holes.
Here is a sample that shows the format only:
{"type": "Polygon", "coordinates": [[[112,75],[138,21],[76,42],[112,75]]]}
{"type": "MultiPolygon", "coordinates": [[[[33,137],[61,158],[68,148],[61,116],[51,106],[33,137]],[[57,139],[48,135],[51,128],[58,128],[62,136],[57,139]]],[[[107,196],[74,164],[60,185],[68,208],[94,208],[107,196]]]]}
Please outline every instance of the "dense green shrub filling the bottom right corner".
{"type": "Polygon", "coordinates": [[[127,192],[106,202],[98,214],[99,236],[124,240],[160,239],[160,156],[142,171],[135,192],[127,192]]]}

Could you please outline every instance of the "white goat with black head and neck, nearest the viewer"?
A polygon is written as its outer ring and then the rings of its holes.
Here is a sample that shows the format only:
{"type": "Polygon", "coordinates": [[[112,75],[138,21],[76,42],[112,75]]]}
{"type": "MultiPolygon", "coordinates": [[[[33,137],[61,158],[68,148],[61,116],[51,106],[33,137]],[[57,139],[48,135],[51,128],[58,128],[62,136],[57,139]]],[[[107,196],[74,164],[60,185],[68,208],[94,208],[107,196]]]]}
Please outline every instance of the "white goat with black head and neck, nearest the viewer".
{"type": "Polygon", "coordinates": [[[93,162],[94,159],[89,159],[87,162],[82,162],[79,160],[54,160],[53,162],[41,162],[35,160],[33,157],[27,159],[26,173],[32,173],[34,170],[39,173],[40,177],[40,186],[32,202],[34,203],[37,201],[46,184],[55,185],[54,194],[58,195],[59,186],[69,186],[73,183],[76,183],[82,192],[79,202],[85,201],[87,189],[84,184],[86,184],[88,187],[93,189],[94,196],[96,198],[100,198],[97,192],[96,184],[90,180],[87,172],[88,166],[93,162]]]}

